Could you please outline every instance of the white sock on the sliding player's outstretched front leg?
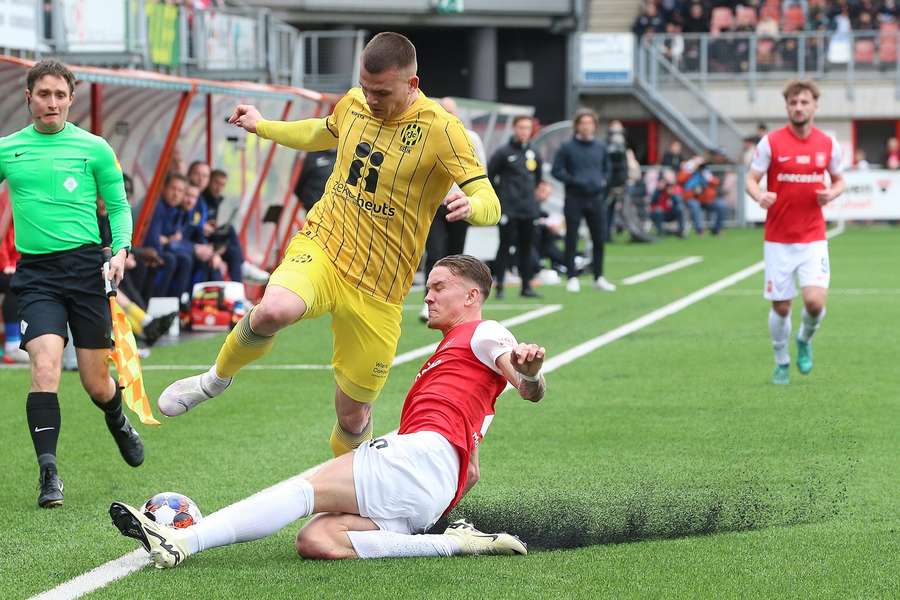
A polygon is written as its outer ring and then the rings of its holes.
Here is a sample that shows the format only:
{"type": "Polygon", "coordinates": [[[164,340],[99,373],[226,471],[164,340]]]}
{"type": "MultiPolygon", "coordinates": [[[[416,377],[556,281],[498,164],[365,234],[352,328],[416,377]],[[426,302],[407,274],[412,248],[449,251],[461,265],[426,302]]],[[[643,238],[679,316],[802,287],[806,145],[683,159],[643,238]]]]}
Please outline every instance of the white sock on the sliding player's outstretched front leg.
{"type": "Polygon", "coordinates": [[[191,552],[258,540],[313,512],[314,493],[305,479],[289,480],[223,508],[185,529],[191,552]]]}

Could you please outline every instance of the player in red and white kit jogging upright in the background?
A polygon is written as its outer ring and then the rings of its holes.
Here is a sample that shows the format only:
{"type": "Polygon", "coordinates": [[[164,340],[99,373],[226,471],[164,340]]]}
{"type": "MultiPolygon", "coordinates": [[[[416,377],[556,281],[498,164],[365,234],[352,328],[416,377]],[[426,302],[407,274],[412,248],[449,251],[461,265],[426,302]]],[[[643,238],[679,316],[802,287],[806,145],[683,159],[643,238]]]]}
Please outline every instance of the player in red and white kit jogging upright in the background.
{"type": "Polygon", "coordinates": [[[791,300],[803,294],[797,334],[797,368],[812,370],[812,336],[825,317],[831,277],[822,207],[844,191],[841,148],[833,137],[813,127],[819,88],[792,81],[784,88],[787,126],[764,136],[756,147],[747,178],[747,193],[767,211],[763,297],[772,301],[769,332],[775,350],[772,383],[790,381],[791,300]],[[826,173],[830,178],[830,185],[826,173]],[[767,190],[759,187],[766,177],[767,190]]]}

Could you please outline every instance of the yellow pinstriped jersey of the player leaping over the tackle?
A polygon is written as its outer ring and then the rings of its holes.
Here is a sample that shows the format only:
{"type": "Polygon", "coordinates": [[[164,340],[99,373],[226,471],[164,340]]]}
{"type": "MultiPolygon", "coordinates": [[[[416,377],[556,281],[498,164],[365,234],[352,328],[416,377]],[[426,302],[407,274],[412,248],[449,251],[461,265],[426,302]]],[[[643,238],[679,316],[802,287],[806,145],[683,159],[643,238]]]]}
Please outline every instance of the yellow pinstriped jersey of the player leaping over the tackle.
{"type": "Polygon", "coordinates": [[[390,121],[374,117],[353,88],[326,119],[260,121],[257,132],[305,150],[337,146],[334,170],[302,233],[348,283],[386,302],[400,304],[409,291],[431,221],[454,182],[488,200],[478,215],[473,205],[470,223],[499,219],[499,201],[463,124],[421,91],[390,121]]]}

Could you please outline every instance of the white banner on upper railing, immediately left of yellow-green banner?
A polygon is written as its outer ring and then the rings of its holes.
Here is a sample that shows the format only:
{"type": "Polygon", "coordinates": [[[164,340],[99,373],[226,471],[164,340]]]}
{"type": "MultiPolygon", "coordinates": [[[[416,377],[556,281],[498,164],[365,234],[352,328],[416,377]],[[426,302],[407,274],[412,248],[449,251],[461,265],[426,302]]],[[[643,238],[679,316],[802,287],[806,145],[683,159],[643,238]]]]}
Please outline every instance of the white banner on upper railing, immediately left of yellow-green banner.
{"type": "Polygon", "coordinates": [[[126,0],[63,0],[68,52],[125,52],[126,0]]]}

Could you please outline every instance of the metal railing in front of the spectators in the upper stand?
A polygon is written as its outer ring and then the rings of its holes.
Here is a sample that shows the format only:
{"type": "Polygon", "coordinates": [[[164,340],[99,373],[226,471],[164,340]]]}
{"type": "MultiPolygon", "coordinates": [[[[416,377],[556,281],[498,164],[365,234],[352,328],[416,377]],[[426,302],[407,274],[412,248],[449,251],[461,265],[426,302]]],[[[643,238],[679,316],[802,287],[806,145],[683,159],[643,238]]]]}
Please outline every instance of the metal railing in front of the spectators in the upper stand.
{"type": "MultiPolygon", "coordinates": [[[[857,81],[889,79],[900,99],[900,30],[829,33],[804,31],[775,37],[755,33],[660,34],[642,40],[688,80],[741,82],[756,97],[759,82],[809,77],[844,82],[852,97],[857,81]]],[[[661,74],[670,78],[669,74],[661,74]]]]}

